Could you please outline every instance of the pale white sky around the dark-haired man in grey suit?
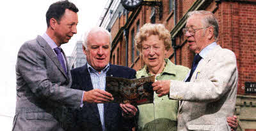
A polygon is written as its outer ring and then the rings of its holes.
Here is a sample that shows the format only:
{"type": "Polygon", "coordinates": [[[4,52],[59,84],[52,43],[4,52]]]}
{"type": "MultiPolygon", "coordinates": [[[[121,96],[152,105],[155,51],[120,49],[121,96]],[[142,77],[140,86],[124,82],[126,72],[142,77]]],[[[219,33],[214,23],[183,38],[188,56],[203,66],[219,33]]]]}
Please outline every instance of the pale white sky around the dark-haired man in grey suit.
{"type": "MultiPolygon", "coordinates": [[[[96,26],[108,0],[70,0],[79,8],[77,34],[65,45],[66,55],[71,55],[76,41],[83,32],[96,26]]],[[[0,8],[0,123],[1,130],[12,130],[15,114],[16,76],[15,64],[20,46],[47,29],[45,13],[56,0],[2,1],[0,8]],[[2,127],[3,125],[3,127],[2,127]]]]}

